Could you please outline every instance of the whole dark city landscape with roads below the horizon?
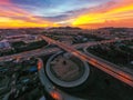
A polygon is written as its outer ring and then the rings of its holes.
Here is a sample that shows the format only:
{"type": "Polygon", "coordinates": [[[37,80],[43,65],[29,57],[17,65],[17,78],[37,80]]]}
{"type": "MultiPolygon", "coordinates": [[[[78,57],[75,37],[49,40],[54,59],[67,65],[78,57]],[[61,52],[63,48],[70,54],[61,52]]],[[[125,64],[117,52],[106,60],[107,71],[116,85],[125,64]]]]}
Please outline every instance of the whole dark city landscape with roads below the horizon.
{"type": "Polygon", "coordinates": [[[133,99],[132,28],[1,29],[0,34],[0,100],[133,99]]]}

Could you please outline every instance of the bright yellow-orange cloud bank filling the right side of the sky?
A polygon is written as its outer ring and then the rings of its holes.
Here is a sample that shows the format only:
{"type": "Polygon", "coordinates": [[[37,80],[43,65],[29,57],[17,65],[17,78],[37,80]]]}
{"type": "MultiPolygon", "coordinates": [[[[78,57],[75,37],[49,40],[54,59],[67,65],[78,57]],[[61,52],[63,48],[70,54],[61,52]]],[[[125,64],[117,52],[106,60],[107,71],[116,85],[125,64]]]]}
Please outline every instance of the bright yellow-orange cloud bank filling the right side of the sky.
{"type": "Polygon", "coordinates": [[[82,14],[72,22],[72,26],[82,28],[133,27],[133,1],[116,3],[103,12],[94,11],[82,14]]]}

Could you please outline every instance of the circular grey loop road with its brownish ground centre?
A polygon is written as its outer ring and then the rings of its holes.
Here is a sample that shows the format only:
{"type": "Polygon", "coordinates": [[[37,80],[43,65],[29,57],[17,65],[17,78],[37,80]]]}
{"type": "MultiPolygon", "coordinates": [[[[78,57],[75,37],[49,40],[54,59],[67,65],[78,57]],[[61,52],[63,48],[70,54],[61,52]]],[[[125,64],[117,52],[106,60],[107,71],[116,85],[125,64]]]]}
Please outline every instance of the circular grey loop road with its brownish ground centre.
{"type": "Polygon", "coordinates": [[[89,79],[90,67],[70,53],[58,52],[48,60],[45,72],[54,84],[62,88],[75,88],[89,79]]]}

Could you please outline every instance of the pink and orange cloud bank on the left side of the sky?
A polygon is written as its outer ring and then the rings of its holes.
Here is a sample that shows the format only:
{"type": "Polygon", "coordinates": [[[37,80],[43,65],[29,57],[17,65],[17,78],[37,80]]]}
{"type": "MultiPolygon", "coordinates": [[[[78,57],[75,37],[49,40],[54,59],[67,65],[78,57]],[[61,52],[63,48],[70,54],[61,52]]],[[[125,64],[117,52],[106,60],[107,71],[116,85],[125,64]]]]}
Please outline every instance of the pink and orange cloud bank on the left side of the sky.
{"type": "Polygon", "coordinates": [[[10,0],[0,0],[0,28],[34,28],[57,27],[41,18],[34,18],[30,12],[11,3],[10,0]]]}

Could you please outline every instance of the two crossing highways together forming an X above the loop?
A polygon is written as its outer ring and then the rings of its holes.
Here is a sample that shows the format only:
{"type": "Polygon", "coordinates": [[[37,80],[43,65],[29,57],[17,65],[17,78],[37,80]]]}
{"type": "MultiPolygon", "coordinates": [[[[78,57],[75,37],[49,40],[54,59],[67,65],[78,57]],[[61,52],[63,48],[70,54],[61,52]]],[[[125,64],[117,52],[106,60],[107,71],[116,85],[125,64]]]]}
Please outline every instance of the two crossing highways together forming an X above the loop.
{"type": "MultiPolygon", "coordinates": [[[[59,41],[55,41],[53,39],[50,39],[45,36],[40,36],[40,37],[43,38],[45,41],[58,46],[59,48],[42,48],[42,49],[32,50],[32,51],[25,51],[25,52],[18,53],[18,54],[0,57],[0,62],[7,61],[7,60],[10,60],[10,59],[17,59],[17,58],[25,58],[27,59],[27,58],[30,58],[30,57],[39,57],[39,56],[51,54],[51,53],[54,53],[54,52],[63,49],[63,50],[72,53],[73,56],[75,56],[75,57],[89,62],[90,64],[96,67],[98,69],[106,72],[108,74],[110,74],[110,76],[123,81],[124,83],[133,87],[133,72],[129,72],[126,70],[120,69],[120,67],[117,67],[115,64],[112,64],[108,61],[101,60],[100,58],[98,58],[93,54],[82,53],[82,52],[76,50],[76,49],[80,49],[80,48],[94,46],[94,44],[111,43],[111,42],[115,42],[117,40],[104,40],[104,41],[100,41],[100,42],[86,42],[86,43],[80,43],[80,44],[72,44],[72,47],[70,47],[70,46],[66,46],[66,44],[61,43],[59,41]]],[[[133,38],[120,39],[119,41],[132,40],[132,39],[133,38]]]]}

